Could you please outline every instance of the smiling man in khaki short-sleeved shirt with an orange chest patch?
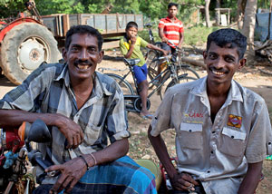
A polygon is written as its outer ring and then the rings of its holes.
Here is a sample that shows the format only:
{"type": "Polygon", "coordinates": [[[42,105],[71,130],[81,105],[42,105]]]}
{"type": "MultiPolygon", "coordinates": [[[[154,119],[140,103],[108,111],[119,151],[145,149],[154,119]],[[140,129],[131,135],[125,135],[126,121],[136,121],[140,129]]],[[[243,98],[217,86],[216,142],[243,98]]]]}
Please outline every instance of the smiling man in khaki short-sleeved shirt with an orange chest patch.
{"type": "Polygon", "coordinates": [[[174,193],[254,193],[272,154],[265,101],[232,78],[246,59],[247,38],[233,29],[209,34],[203,53],[208,76],[173,86],[151,121],[149,138],[174,193]],[[176,130],[178,170],[161,131],[176,130]],[[182,191],[181,191],[182,190],[182,191]]]}

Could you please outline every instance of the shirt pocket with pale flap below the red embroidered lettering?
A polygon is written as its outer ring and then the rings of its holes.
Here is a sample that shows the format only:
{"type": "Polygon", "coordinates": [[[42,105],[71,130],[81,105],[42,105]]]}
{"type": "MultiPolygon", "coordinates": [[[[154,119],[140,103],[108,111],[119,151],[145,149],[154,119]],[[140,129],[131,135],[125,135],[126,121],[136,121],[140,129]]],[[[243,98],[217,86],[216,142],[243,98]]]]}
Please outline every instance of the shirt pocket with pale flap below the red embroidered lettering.
{"type": "Polygon", "coordinates": [[[202,125],[181,122],[178,138],[181,148],[201,149],[203,144],[202,125]]]}

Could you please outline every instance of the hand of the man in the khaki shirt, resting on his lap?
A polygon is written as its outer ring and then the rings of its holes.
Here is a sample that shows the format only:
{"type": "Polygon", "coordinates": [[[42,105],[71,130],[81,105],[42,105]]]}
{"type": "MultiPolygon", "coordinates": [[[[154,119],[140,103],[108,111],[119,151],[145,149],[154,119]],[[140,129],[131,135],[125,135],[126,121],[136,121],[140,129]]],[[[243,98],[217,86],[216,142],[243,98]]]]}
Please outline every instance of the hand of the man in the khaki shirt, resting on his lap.
{"type": "Polygon", "coordinates": [[[170,183],[173,189],[191,191],[195,190],[195,185],[199,185],[199,183],[195,179],[192,179],[187,173],[175,174],[174,177],[170,179],[170,183]]]}

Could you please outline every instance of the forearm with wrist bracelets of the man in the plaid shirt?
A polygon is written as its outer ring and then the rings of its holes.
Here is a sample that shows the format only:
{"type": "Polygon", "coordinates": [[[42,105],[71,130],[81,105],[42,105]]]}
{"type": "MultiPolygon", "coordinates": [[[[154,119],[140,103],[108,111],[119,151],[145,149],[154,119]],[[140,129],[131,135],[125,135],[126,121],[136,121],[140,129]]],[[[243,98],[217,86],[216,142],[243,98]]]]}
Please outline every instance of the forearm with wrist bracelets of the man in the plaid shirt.
{"type": "Polygon", "coordinates": [[[129,141],[128,139],[122,139],[120,141],[115,141],[107,148],[99,150],[91,154],[84,154],[83,157],[88,163],[89,167],[96,164],[102,164],[117,160],[122,156],[126,155],[129,151],[129,141]],[[93,157],[92,157],[93,156],[93,157]]]}

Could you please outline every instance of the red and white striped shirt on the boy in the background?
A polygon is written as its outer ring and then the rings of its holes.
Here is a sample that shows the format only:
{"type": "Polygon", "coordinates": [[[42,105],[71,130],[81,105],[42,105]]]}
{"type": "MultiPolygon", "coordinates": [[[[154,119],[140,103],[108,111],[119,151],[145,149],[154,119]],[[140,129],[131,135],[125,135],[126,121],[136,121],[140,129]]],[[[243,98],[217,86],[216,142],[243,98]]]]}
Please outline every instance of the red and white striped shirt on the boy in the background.
{"type": "Polygon", "coordinates": [[[180,34],[184,32],[184,29],[182,22],[177,17],[174,22],[168,16],[160,19],[159,28],[163,28],[163,34],[173,44],[180,43],[180,34]]]}

